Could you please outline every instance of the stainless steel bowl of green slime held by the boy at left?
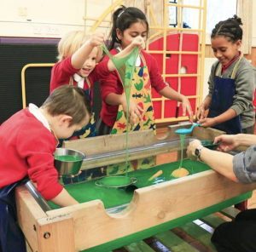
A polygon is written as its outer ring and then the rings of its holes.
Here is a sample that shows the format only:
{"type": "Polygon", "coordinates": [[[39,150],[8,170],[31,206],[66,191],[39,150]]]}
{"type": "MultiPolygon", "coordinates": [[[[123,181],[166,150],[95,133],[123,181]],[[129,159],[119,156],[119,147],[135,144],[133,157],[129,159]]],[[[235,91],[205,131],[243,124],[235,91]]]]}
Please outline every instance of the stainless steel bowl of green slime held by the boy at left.
{"type": "Polygon", "coordinates": [[[76,150],[57,148],[54,153],[54,157],[55,169],[57,169],[59,175],[70,176],[77,175],[79,173],[79,169],[81,169],[85,155],[84,153],[76,150]]]}

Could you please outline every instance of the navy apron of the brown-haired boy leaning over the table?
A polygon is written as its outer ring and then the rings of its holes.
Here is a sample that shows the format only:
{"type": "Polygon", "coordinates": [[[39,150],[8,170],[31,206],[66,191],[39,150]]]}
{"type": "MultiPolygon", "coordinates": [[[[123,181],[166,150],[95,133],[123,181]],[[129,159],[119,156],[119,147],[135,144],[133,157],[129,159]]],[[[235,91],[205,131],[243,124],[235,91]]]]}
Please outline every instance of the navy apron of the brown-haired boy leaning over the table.
{"type": "Polygon", "coordinates": [[[17,224],[15,187],[19,184],[15,182],[0,189],[0,245],[3,252],[26,252],[26,240],[17,224]]]}

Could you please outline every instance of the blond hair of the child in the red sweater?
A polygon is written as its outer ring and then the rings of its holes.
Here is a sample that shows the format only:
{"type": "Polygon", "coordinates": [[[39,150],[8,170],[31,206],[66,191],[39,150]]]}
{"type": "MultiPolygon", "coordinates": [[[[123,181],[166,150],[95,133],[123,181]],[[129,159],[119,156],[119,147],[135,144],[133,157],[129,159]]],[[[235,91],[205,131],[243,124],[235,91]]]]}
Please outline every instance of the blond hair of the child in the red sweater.
{"type": "MultiPolygon", "coordinates": [[[[57,56],[57,59],[62,61],[67,57],[72,56],[89,39],[90,35],[85,34],[84,31],[68,32],[64,37],[61,38],[61,41],[58,43],[59,55],[57,56]]],[[[98,46],[97,49],[98,52],[96,56],[96,62],[102,58],[102,48],[98,46]]]]}

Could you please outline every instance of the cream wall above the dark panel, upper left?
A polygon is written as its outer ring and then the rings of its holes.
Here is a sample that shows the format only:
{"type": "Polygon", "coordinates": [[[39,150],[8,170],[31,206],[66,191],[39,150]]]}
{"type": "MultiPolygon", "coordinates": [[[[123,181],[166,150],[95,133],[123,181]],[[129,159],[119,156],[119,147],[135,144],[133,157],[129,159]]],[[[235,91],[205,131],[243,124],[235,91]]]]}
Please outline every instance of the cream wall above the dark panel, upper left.
{"type": "MultiPolygon", "coordinates": [[[[98,18],[111,3],[111,0],[1,0],[0,36],[62,37],[68,31],[84,30],[85,12],[86,16],[98,18]]],[[[93,23],[87,20],[86,26],[93,23]]]]}

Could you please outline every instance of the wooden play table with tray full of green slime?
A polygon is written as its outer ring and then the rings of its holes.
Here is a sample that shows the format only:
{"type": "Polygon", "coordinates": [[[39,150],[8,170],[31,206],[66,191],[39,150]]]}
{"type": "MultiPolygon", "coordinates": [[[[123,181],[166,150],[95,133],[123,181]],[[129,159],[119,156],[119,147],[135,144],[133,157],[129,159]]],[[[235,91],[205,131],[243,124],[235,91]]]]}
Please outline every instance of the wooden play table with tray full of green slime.
{"type": "MultiPolygon", "coordinates": [[[[173,130],[178,127],[180,126],[171,127],[167,138],[176,141],[177,135],[173,134],[173,130]]],[[[211,140],[218,134],[218,131],[212,129],[195,129],[189,137],[211,140]]],[[[148,146],[150,141],[152,145],[154,141],[149,132],[135,132],[131,139],[134,139],[130,146],[131,149],[139,145],[148,146]],[[148,137],[146,138],[145,135],[148,137]]],[[[75,144],[73,141],[70,143],[75,144]]],[[[90,150],[96,150],[96,144],[99,144],[98,149],[101,149],[99,152],[102,152],[104,149],[102,143],[105,148],[111,146],[112,152],[120,150],[122,145],[125,148],[122,135],[108,135],[79,141],[76,149],[81,151],[79,146],[87,145],[90,146],[90,150]]],[[[161,152],[167,152],[163,146],[161,147],[161,152]]],[[[85,146],[84,149],[86,149],[85,146]]],[[[178,150],[178,145],[166,146],[166,149],[171,155],[172,152],[178,150]]],[[[108,152],[109,150],[103,153],[108,152]]],[[[160,152],[160,150],[154,150],[154,154],[155,152],[160,152]]],[[[146,157],[149,154],[149,150],[143,151],[142,149],[141,152],[131,153],[129,158],[146,157]]],[[[96,152],[91,154],[91,157],[93,156],[96,156],[96,152]]],[[[119,153],[117,156],[120,160],[123,154],[119,153]]],[[[98,163],[108,163],[106,159],[108,158],[102,158],[98,163]]],[[[112,162],[114,162],[113,159],[112,162]]],[[[96,165],[98,163],[96,162],[96,165]]],[[[92,161],[90,166],[86,167],[86,165],[85,163],[84,169],[91,168],[92,161]]],[[[143,176],[148,178],[158,169],[163,169],[163,177],[168,176],[169,169],[176,165],[176,163],[162,164],[147,171],[133,172],[132,176],[138,177],[137,185],[141,188],[130,193],[126,198],[120,196],[124,195],[124,192],[120,192],[123,189],[95,186],[94,180],[67,186],[67,190],[79,202],[86,202],[46,212],[40,208],[30,192],[24,186],[20,186],[16,190],[20,227],[33,251],[107,252],[239,203],[250,198],[255,188],[255,185],[237,184],[209,169],[205,164],[189,160],[184,160],[184,167],[188,165],[185,168],[191,171],[193,169],[193,175],[177,180],[162,181],[159,184],[154,183],[153,180],[153,185],[147,185],[146,178],[143,180],[143,176]],[[93,191],[96,192],[92,193],[93,191]],[[118,191],[119,196],[116,197],[112,191],[118,191]],[[107,199],[104,196],[106,193],[109,193],[107,199]],[[93,198],[93,194],[97,199],[93,198]],[[109,198],[118,198],[119,201],[110,203],[109,198]],[[130,200],[131,203],[127,204],[130,200]]],[[[162,180],[166,179],[162,178],[162,180]]]]}

